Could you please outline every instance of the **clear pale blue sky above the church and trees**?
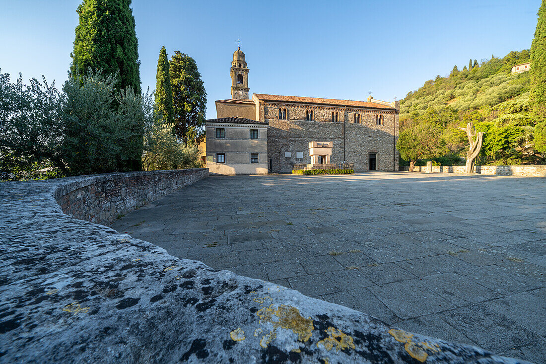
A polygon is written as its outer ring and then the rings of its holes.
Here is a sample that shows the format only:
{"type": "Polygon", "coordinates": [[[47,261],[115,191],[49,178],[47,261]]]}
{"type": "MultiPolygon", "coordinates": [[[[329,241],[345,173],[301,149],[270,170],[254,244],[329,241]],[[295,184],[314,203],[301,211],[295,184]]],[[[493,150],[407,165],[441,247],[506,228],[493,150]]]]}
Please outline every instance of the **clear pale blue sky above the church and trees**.
{"type": "MultiPolygon", "coordinates": [[[[15,79],[67,78],[76,0],[0,0],[0,68],[15,79]]],[[[159,49],[195,58],[207,96],[230,98],[236,40],[251,92],[385,101],[460,69],[469,58],[529,49],[541,0],[133,0],[143,90],[153,91],[159,49]]]]}

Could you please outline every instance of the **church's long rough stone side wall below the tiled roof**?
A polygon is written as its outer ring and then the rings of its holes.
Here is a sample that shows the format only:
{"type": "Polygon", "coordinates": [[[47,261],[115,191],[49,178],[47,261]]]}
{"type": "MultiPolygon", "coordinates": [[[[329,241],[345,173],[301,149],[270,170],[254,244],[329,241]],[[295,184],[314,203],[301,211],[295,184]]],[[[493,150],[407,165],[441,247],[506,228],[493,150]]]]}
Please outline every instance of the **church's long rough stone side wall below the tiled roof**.
{"type": "Polygon", "coordinates": [[[398,114],[394,111],[260,102],[259,118],[260,121],[269,122],[270,172],[289,173],[294,164],[311,163],[308,143],[312,141],[333,142],[331,162],[345,160],[354,163],[355,172],[370,170],[370,153],[377,154],[377,171],[398,169],[398,152],[395,148],[398,114]],[[287,109],[287,120],[278,119],[278,108],[287,109]],[[313,121],[306,120],[306,110],[313,110],[313,121]],[[332,111],[338,113],[338,122],[332,122],[332,111]],[[360,124],[354,123],[356,113],[360,114],[360,124]],[[376,125],[376,115],[382,115],[383,125],[376,125]],[[290,152],[290,157],[286,157],[285,152],[290,152]],[[296,152],[302,152],[304,157],[296,158],[296,152]]]}

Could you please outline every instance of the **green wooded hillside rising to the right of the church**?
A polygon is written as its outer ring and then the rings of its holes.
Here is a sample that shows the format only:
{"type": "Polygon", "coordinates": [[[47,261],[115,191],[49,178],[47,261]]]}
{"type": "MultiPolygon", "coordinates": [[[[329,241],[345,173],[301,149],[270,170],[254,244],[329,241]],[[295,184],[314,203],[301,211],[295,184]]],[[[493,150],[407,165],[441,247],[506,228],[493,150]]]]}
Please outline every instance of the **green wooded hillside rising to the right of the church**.
{"type": "MultiPolygon", "coordinates": [[[[478,63],[470,60],[459,71],[455,66],[448,77],[437,75],[400,101],[400,127],[426,123],[440,133],[440,157],[444,165],[464,164],[466,134],[458,127],[472,121],[485,133],[479,164],[541,164],[535,150],[535,125],[539,118],[529,104],[530,72],[512,74],[515,64],[530,62],[530,51],[510,52],[503,58],[492,56],[478,63]]],[[[436,154],[438,155],[438,153],[436,154]]]]}

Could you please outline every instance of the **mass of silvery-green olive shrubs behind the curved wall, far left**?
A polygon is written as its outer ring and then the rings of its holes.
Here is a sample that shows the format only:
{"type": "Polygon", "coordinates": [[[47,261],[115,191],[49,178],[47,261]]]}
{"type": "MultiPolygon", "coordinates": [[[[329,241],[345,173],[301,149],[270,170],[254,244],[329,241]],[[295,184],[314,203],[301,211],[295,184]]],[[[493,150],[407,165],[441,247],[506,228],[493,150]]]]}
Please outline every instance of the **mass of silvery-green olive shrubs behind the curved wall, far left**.
{"type": "Polygon", "coordinates": [[[115,76],[88,71],[63,91],[0,75],[0,172],[10,179],[141,169],[143,97],[118,92],[115,76]]]}

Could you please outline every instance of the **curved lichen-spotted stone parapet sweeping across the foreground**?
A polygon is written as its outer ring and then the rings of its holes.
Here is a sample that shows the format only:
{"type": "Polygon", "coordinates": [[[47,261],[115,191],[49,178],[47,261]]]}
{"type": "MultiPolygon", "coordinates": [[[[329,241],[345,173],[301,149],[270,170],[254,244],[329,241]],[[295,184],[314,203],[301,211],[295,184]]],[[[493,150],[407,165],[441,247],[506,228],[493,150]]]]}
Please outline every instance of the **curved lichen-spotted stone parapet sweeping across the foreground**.
{"type": "Polygon", "coordinates": [[[56,201],[107,220],[100,206],[151,201],[169,173],[0,183],[0,362],[521,362],[170,256],[56,201]]]}

